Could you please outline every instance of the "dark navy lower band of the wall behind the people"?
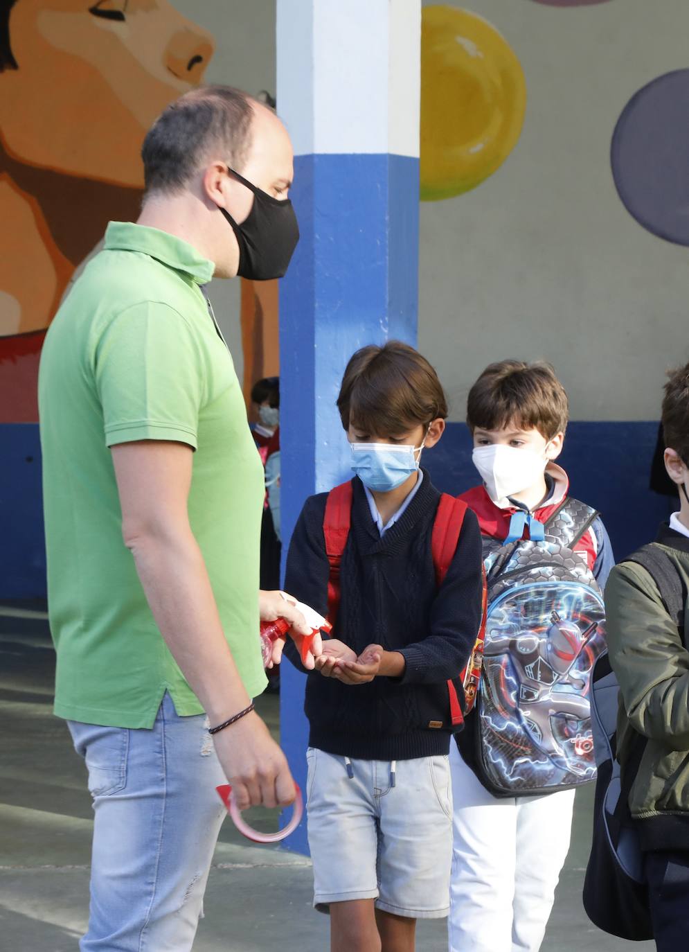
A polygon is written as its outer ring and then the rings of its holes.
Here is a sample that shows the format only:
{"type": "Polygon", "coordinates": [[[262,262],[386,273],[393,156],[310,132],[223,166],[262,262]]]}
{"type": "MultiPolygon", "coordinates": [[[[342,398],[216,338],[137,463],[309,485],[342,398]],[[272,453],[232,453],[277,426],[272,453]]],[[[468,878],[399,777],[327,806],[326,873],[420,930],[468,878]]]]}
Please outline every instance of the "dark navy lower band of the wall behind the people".
{"type": "MultiPolygon", "coordinates": [[[[339,424],[338,424],[339,426],[339,424]]],[[[298,462],[307,453],[304,427],[292,433],[291,452],[298,462]]],[[[623,559],[653,539],[661,521],[679,508],[679,500],[648,488],[657,423],[570,423],[560,463],[569,473],[572,494],[600,509],[615,554],[623,559]]],[[[340,430],[333,442],[344,440],[340,430]]],[[[41,446],[37,424],[0,425],[0,598],[46,594],[43,535],[41,446]]],[[[448,424],[441,443],[428,451],[423,465],[444,492],[463,492],[477,483],[471,440],[463,424],[448,424]]],[[[307,483],[302,495],[312,491],[307,483]]]]}

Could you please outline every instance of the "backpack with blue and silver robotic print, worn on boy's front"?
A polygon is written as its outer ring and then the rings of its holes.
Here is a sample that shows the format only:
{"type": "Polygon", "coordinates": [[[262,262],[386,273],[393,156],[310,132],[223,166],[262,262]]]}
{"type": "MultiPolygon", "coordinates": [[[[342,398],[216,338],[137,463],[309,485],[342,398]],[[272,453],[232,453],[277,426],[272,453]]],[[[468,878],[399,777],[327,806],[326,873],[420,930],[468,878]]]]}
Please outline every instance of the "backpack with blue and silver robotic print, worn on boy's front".
{"type": "Polygon", "coordinates": [[[484,540],[488,615],[477,704],[483,782],[528,796],[596,777],[589,682],[604,606],[574,546],[597,512],[567,499],[541,541],[484,540]]]}

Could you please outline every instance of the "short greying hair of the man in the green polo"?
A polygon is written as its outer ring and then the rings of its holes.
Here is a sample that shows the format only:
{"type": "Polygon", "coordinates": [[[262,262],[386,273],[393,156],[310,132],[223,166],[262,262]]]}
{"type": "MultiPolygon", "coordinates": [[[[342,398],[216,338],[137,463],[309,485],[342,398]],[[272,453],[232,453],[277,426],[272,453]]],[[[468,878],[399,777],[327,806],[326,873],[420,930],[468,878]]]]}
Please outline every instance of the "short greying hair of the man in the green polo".
{"type": "Polygon", "coordinates": [[[251,145],[253,102],[241,89],[205,86],[170,103],[141,149],[146,194],[181,191],[213,153],[241,171],[251,145]]]}

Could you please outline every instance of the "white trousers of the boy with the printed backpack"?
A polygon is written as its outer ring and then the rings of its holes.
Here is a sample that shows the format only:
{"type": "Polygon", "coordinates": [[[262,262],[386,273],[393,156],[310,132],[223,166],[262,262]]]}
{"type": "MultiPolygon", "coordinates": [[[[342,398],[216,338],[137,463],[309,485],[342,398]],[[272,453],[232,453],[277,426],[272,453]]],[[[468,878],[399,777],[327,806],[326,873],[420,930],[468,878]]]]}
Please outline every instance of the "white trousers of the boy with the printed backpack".
{"type": "Polygon", "coordinates": [[[450,952],[538,952],[569,850],[574,790],[499,799],[450,744],[450,952]]]}

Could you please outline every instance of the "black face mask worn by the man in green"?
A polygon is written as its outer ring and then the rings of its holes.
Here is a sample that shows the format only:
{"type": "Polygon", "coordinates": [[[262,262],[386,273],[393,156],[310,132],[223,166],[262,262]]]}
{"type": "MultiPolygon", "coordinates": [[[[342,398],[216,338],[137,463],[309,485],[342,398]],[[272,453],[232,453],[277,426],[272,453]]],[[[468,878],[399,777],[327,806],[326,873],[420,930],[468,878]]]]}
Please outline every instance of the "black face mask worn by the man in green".
{"type": "Polygon", "coordinates": [[[246,221],[238,225],[226,208],[220,208],[232,226],[239,245],[237,274],[251,281],[282,278],[299,241],[297,216],[289,199],[273,198],[227,167],[254,194],[246,221]]]}

